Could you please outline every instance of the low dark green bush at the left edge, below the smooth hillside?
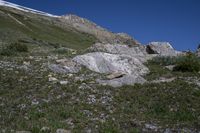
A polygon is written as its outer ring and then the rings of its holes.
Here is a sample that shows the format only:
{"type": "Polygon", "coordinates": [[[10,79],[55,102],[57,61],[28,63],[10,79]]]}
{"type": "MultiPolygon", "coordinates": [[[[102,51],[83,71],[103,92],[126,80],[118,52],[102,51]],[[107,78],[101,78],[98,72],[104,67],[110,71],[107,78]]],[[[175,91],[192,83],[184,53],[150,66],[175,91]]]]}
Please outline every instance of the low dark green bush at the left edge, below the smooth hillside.
{"type": "Polygon", "coordinates": [[[22,43],[11,43],[10,45],[2,48],[0,55],[11,56],[18,52],[28,52],[28,47],[22,43]]]}

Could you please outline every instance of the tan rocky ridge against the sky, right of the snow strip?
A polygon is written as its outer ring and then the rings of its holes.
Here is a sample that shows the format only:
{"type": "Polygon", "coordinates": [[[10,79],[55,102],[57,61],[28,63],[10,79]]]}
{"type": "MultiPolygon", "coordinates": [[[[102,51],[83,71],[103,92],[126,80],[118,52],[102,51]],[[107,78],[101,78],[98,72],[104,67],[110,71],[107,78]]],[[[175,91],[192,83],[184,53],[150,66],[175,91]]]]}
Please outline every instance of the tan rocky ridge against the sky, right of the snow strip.
{"type": "Polygon", "coordinates": [[[112,33],[111,31],[108,31],[107,29],[104,29],[85,18],[81,18],[76,15],[61,16],[60,21],[62,24],[72,26],[78,31],[94,35],[100,42],[138,45],[136,40],[125,33],[112,33]]]}

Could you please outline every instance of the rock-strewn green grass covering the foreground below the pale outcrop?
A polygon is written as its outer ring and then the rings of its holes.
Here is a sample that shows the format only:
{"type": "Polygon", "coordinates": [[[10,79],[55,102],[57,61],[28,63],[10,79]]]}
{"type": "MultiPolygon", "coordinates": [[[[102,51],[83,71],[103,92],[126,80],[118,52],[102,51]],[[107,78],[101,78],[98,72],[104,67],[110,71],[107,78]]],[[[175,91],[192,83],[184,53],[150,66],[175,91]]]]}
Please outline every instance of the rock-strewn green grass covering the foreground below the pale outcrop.
{"type": "MultiPolygon", "coordinates": [[[[198,129],[200,126],[200,88],[194,84],[178,79],[162,84],[121,88],[93,85],[91,89],[81,89],[79,86],[88,82],[74,82],[73,77],[45,70],[43,64],[51,60],[41,58],[38,62],[28,57],[1,57],[17,65],[22,65],[23,61],[30,61],[32,65],[31,72],[0,69],[1,129],[37,133],[42,127],[49,127],[51,132],[64,128],[73,132],[91,129],[138,133],[145,123],[155,123],[162,128],[198,129]],[[49,82],[49,74],[59,80],[67,79],[70,84],[62,86],[49,82]],[[97,102],[88,104],[89,95],[95,95],[97,102]],[[102,104],[98,100],[103,96],[112,101],[102,104]],[[34,100],[39,103],[33,105],[34,100]],[[91,116],[84,110],[91,112],[91,116]],[[108,115],[104,122],[101,114],[108,115]],[[98,120],[92,120],[94,118],[98,120]]],[[[82,70],[78,75],[90,73],[82,70]]]]}

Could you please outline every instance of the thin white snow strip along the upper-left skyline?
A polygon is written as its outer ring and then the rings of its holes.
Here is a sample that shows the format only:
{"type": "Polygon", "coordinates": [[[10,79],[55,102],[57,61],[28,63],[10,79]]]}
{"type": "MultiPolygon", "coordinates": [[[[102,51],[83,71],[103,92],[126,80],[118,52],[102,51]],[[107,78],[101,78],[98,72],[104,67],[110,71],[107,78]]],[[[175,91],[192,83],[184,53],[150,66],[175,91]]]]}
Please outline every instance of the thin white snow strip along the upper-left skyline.
{"type": "Polygon", "coordinates": [[[59,16],[56,16],[56,15],[52,15],[52,14],[49,14],[49,13],[46,13],[46,12],[34,10],[34,9],[31,9],[31,8],[27,8],[27,7],[23,7],[23,6],[20,6],[20,5],[14,4],[14,3],[10,3],[10,2],[7,2],[7,1],[3,1],[3,0],[0,0],[0,6],[12,7],[12,8],[21,10],[21,11],[31,12],[31,13],[39,14],[39,15],[43,15],[43,16],[59,17],[59,16]]]}

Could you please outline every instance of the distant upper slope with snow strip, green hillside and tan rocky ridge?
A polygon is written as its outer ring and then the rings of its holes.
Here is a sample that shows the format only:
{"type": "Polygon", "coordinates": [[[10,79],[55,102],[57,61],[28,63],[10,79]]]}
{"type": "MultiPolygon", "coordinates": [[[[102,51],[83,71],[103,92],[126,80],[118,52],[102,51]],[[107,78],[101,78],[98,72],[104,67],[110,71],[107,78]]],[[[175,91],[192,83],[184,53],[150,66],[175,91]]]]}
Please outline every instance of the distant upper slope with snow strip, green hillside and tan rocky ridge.
{"type": "Polygon", "coordinates": [[[55,16],[45,12],[0,1],[0,38],[20,38],[58,43],[73,49],[85,49],[94,42],[137,45],[128,35],[112,33],[75,15],[55,16]]]}

